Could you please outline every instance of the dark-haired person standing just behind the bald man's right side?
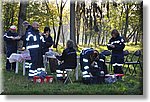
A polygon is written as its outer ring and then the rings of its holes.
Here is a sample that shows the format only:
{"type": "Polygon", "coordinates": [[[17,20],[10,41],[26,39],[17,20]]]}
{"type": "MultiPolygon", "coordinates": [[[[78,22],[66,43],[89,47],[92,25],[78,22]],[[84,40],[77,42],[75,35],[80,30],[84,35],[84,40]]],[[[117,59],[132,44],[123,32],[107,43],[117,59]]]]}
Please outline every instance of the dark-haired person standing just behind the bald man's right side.
{"type": "Polygon", "coordinates": [[[45,43],[44,43],[44,46],[42,46],[43,55],[45,55],[45,52],[48,52],[49,48],[54,44],[53,39],[50,35],[50,31],[51,30],[49,27],[44,28],[43,37],[44,37],[45,43]]]}

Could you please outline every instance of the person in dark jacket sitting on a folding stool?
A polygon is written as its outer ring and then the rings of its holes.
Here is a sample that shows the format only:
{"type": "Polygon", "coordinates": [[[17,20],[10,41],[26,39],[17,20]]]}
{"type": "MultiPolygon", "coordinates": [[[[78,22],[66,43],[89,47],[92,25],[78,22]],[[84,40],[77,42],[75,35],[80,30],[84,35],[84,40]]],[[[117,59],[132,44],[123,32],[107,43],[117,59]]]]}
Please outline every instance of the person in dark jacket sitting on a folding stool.
{"type": "Polygon", "coordinates": [[[61,80],[64,77],[62,74],[65,69],[75,69],[77,66],[77,53],[74,49],[74,42],[72,40],[68,40],[66,49],[63,50],[61,56],[56,56],[56,58],[62,62],[56,70],[57,79],[61,80]]]}

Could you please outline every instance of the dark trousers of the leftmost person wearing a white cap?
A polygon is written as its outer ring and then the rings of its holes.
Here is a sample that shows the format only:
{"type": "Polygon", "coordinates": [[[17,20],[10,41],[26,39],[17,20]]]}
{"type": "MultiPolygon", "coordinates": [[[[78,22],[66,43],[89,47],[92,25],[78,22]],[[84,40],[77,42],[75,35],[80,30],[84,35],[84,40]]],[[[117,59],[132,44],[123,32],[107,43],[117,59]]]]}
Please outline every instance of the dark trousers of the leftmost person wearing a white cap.
{"type": "MultiPolygon", "coordinates": [[[[7,48],[7,51],[6,51],[6,56],[7,56],[7,58],[9,58],[12,53],[17,53],[17,49],[10,49],[10,48],[7,48]]],[[[6,62],[6,70],[7,70],[7,71],[10,71],[10,70],[15,71],[15,69],[16,69],[16,62],[10,63],[9,60],[7,59],[7,62],[6,62]]]]}

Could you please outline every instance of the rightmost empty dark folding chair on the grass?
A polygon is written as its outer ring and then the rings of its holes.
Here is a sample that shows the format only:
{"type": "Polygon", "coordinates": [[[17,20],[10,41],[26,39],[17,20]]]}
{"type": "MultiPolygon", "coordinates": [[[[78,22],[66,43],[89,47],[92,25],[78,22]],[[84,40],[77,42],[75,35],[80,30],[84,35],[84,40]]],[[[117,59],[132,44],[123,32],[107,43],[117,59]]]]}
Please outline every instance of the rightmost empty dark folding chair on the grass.
{"type": "Polygon", "coordinates": [[[125,62],[125,64],[127,64],[128,65],[128,68],[126,69],[126,72],[127,72],[127,70],[129,70],[129,72],[131,73],[131,69],[129,68],[130,67],[130,65],[132,65],[133,66],[133,71],[132,71],[132,75],[135,73],[137,73],[136,72],[136,66],[137,65],[139,65],[140,66],[140,69],[141,69],[141,71],[143,71],[143,67],[142,67],[142,62],[141,62],[141,56],[142,56],[142,54],[141,54],[141,51],[140,50],[137,50],[137,51],[135,51],[134,53],[133,53],[133,55],[131,56],[131,60],[129,61],[127,61],[127,62],[125,62]]]}

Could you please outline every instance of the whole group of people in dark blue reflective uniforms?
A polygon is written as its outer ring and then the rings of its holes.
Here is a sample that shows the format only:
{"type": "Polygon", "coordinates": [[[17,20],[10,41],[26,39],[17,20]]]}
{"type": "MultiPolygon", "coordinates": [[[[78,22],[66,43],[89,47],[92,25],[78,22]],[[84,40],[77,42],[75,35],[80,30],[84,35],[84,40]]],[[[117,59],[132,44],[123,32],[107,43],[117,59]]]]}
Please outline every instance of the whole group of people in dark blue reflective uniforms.
{"type": "MultiPolygon", "coordinates": [[[[6,42],[6,70],[15,71],[15,63],[10,63],[8,58],[12,53],[17,53],[17,42],[23,40],[23,47],[29,50],[31,60],[27,61],[31,67],[29,68],[28,78],[33,79],[37,75],[38,68],[44,68],[43,55],[49,51],[49,48],[54,44],[52,37],[50,36],[50,28],[45,27],[44,32],[39,32],[39,23],[33,22],[30,25],[27,21],[23,22],[23,26],[26,28],[25,34],[19,36],[16,33],[16,26],[11,26],[10,29],[5,32],[3,38],[6,42]]],[[[111,64],[114,67],[115,74],[123,74],[122,65],[124,63],[123,49],[125,47],[124,39],[120,36],[119,32],[114,29],[111,32],[112,38],[107,44],[108,50],[112,50],[111,64]]],[[[77,53],[74,49],[74,42],[68,40],[66,48],[63,50],[61,56],[56,56],[57,60],[63,61],[56,70],[57,77],[62,78],[64,69],[74,69],[77,66],[77,53]]],[[[56,62],[57,63],[57,62],[56,62]]],[[[107,74],[107,67],[105,64],[105,55],[99,53],[93,48],[85,48],[80,53],[80,65],[83,76],[83,81],[89,80],[91,77],[99,79],[100,76],[107,74]]]]}

